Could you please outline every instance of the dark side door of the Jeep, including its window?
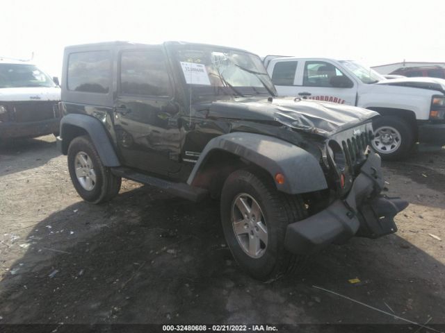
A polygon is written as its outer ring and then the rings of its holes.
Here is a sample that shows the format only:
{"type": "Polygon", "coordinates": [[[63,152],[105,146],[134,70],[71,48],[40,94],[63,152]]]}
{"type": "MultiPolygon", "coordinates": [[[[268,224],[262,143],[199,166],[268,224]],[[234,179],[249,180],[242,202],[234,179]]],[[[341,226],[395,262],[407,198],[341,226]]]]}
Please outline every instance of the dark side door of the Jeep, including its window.
{"type": "Polygon", "coordinates": [[[118,53],[118,94],[114,108],[118,151],[124,165],[167,175],[180,169],[179,108],[167,61],[160,48],[118,53]]]}

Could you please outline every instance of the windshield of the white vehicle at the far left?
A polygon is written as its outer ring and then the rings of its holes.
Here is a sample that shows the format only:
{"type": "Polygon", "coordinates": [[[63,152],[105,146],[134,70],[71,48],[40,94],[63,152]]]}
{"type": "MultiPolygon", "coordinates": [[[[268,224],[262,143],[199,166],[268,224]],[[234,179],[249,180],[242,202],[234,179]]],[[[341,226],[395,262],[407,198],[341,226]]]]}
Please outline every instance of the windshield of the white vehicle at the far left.
{"type": "Polygon", "coordinates": [[[53,80],[35,65],[0,64],[0,88],[55,86],[53,80]]]}

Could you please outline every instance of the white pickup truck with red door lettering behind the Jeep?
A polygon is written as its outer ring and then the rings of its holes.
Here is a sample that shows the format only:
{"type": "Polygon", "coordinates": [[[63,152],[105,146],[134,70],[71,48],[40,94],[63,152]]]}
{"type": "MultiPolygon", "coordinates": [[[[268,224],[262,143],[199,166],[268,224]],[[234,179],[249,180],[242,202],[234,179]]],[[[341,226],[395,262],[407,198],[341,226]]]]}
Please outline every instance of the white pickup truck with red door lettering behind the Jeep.
{"type": "Polygon", "coordinates": [[[395,160],[416,142],[445,144],[445,80],[387,80],[350,60],[268,56],[264,65],[280,96],[356,105],[382,115],[373,123],[375,151],[395,160]]]}

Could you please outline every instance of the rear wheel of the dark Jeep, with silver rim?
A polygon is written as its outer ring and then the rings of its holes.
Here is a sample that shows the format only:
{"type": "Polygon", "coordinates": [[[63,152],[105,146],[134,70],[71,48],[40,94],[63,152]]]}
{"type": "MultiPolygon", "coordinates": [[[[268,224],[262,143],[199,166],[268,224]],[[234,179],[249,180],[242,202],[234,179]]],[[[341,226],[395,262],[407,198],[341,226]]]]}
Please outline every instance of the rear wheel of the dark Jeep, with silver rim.
{"type": "Polygon", "coordinates": [[[68,147],[68,170],[74,188],[88,203],[104,203],[115,197],[122,178],[104,167],[90,138],[76,137],[68,147]]]}

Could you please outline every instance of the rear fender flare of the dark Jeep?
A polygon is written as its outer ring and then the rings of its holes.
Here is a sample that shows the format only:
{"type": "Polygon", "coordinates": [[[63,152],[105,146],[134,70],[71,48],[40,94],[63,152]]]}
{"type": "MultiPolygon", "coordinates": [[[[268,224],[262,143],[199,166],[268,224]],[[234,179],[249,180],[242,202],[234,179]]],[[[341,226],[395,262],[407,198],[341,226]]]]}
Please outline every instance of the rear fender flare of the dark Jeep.
{"type": "Polygon", "coordinates": [[[88,133],[104,166],[120,166],[118,155],[116,155],[113,144],[111,144],[111,139],[106,134],[104,125],[99,119],[86,114],[67,114],[60,121],[61,151],[64,155],[67,154],[68,146],[70,146],[71,140],[74,139],[69,133],[70,128],[73,127],[81,128],[88,133]]]}

